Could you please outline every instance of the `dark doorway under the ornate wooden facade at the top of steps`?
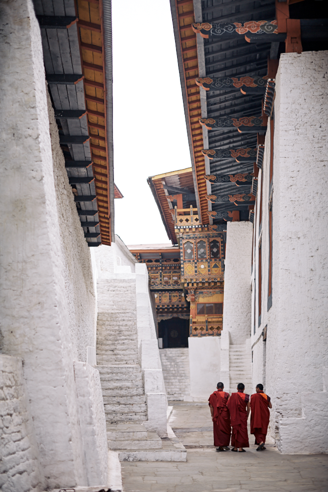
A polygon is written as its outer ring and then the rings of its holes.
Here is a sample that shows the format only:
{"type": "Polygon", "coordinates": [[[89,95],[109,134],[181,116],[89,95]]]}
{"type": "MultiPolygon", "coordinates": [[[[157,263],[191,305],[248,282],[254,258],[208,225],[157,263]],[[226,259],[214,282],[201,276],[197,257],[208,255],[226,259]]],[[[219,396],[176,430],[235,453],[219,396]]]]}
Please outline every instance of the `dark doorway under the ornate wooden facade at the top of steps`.
{"type": "Polygon", "coordinates": [[[158,338],[163,339],[163,349],[188,347],[189,319],[162,319],[158,323],[158,338]]]}

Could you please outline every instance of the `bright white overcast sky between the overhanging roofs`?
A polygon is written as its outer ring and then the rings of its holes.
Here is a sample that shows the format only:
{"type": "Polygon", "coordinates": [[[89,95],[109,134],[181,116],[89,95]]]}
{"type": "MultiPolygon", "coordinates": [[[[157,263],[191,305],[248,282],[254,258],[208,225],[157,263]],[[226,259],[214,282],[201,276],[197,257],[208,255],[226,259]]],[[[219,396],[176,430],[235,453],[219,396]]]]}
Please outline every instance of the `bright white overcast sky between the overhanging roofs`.
{"type": "Polygon", "coordinates": [[[113,0],[115,233],[169,243],[147,177],[191,167],[169,0],[113,0]]]}

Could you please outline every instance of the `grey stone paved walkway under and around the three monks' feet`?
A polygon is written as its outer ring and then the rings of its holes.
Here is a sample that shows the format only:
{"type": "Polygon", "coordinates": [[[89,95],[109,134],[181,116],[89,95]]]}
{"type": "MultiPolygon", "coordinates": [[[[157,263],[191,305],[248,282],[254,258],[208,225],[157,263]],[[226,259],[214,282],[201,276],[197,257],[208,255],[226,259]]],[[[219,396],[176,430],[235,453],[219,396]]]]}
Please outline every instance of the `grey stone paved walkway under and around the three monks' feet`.
{"type": "Polygon", "coordinates": [[[187,461],[122,462],[124,492],[328,492],[328,455],[281,455],[272,444],[263,452],[252,445],[240,455],[217,453],[208,405],[170,404],[170,425],[188,446],[187,461]]]}

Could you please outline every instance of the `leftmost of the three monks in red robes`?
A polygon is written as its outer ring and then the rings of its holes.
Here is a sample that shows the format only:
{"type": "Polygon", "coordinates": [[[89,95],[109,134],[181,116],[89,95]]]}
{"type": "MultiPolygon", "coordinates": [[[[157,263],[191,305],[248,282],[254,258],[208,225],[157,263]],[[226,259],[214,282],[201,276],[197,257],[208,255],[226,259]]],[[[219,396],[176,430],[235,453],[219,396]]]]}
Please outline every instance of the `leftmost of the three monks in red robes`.
{"type": "Polygon", "coordinates": [[[218,446],[217,451],[229,449],[231,425],[230,415],[227,409],[229,393],[223,391],[223,383],[218,383],[218,391],[214,391],[209,398],[209,406],[213,421],[214,446],[218,446]]]}

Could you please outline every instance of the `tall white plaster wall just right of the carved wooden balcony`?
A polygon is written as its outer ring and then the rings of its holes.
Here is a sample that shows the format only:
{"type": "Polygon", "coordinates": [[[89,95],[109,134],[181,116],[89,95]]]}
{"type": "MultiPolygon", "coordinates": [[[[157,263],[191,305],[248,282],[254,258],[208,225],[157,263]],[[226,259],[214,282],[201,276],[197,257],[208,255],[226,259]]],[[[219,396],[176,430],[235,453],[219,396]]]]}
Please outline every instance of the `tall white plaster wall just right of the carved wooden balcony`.
{"type": "Polygon", "coordinates": [[[252,223],[228,222],[224,269],[223,331],[245,344],[251,324],[252,223]]]}

